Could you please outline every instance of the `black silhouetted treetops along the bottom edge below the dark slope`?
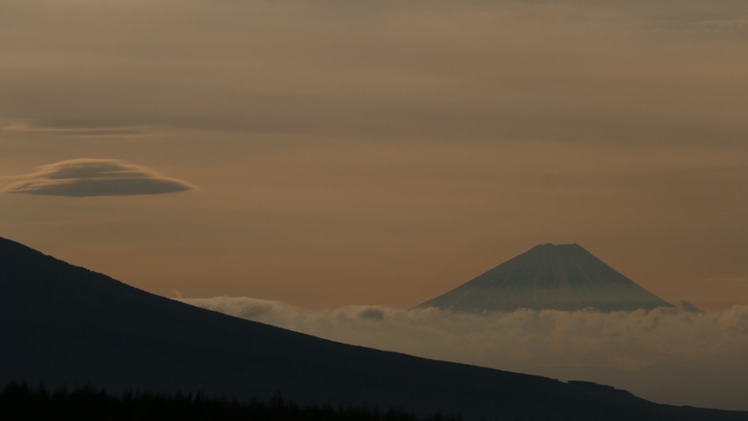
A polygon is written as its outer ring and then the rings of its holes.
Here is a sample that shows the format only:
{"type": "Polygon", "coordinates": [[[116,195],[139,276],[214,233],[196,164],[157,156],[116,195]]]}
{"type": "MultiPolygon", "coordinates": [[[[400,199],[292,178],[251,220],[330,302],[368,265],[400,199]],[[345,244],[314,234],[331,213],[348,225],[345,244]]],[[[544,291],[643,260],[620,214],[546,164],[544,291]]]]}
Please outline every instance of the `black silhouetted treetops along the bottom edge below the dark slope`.
{"type": "Polygon", "coordinates": [[[364,405],[299,405],[277,391],[264,401],[256,397],[240,401],[228,395],[157,393],[128,390],[108,393],[91,384],[53,391],[12,381],[0,392],[0,409],[10,419],[75,419],[77,421],[462,421],[460,416],[418,416],[405,409],[382,410],[364,405]]]}

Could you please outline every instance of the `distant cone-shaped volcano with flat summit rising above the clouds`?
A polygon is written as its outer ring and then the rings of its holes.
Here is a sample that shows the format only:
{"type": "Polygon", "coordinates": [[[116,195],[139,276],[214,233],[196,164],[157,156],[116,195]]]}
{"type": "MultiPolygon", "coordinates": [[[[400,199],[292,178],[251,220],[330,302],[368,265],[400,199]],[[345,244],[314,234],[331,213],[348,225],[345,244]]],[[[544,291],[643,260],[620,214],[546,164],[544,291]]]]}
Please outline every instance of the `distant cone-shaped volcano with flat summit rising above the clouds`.
{"type": "Polygon", "coordinates": [[[535,246],[415,308],[427,307],[459,312],[632,312],[672,305],[574,243],[535,246]]]}

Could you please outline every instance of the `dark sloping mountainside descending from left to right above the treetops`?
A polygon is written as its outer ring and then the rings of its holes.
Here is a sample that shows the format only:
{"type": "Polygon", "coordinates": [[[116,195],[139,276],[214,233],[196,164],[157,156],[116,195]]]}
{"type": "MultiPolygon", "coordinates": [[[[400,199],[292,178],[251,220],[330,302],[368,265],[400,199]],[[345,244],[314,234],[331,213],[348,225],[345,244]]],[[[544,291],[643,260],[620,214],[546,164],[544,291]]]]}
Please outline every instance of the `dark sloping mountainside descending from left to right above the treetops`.
{"type": "Polygon", "coordinates": [[[299,404],[441,410],[467,419],[744,420],[604,386],[337,344],[154,296],[0,239],[0,385],[90,382],[299,404]]]}

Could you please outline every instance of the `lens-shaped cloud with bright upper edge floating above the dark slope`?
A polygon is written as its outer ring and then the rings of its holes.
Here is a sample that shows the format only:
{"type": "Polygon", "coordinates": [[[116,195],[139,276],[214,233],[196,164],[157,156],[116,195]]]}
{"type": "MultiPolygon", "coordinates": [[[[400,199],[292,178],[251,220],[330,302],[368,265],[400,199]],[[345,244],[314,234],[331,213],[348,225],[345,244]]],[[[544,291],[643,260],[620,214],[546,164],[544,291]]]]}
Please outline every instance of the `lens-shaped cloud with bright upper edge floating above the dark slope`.
{"type": "Polygon", "coordinates": [[[118,159],[71,159],[40,166],[37,173],[18,177],[6,193],[39,196],[131,196],[193,190],[189,182],[167,178],[143,166],[118,159]]]}

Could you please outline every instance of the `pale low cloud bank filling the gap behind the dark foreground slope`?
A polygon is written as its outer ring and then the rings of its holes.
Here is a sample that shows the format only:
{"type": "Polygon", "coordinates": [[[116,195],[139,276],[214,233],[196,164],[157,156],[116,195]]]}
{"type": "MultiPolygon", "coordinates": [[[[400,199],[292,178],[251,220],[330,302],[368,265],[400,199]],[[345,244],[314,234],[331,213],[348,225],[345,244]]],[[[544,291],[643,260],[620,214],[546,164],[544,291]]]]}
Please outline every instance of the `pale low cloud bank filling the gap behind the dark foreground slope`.
{"type": "Polygon", "coordinates": [[[597,381],[663,403],[748,410],[741,392],[748,390],[748,305],[485,315],[355,305],[308,311],[229,296],[180,301],[346,344],[597,381]]]}

